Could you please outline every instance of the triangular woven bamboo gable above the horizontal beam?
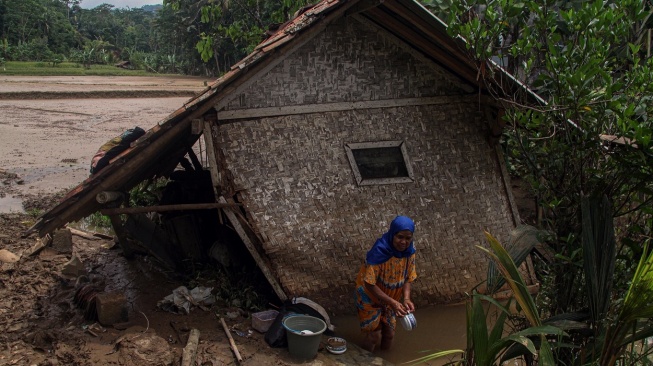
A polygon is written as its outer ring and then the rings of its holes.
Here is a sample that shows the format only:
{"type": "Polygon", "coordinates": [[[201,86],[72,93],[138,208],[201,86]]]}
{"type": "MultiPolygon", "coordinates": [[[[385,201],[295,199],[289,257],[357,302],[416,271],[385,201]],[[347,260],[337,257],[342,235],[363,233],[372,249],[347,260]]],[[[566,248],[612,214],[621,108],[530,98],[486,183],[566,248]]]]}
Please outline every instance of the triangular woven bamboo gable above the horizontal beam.
{"type": "Polygon", "coordinates": [[[356,22],[334,24],[240,94],[229,109],[464,93],[435,65],[356,22]]]}

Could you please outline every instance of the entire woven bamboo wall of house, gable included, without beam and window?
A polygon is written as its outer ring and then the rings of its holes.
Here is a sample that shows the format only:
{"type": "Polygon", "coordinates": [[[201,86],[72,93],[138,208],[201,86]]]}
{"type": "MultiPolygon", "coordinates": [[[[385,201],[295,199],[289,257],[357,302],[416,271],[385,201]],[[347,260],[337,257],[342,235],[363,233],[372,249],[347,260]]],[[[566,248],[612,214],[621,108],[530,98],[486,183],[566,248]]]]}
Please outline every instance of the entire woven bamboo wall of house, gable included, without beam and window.
{"type": "MultiPolygon", "coordinates": [[[[328,29],[242,93],[231,109],[455,95],[444,74],[359,24],[328,29]]],[[[353,313],[366,251],[397,215],[416,222],[418,306],[457,301],[485,278],[483,231],[512,218],[487,127],[467,99],[237,121],[220,126],[226,165],[290,296],[353,313]],[[358,186],[351,142],[404,140],[414,183],[358,186]]]]}

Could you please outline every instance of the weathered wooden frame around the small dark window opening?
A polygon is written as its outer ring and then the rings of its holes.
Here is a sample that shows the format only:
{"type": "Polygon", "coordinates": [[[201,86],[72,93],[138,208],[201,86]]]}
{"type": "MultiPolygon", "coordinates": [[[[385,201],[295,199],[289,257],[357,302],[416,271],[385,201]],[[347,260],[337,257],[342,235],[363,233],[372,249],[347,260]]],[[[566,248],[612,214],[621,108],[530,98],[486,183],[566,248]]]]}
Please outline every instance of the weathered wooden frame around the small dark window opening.
{"type": "Polygon", "coordinates": [[[345,151],[347,152],[347,158],[349,159],[349,165],[351,166],[351,170],[353,171],[354,177],[356,178],[356,183],[359,186],[413,183],[415,181],[413,168],[411,166],[410,158],[408,157],[408,151],[406,149],[406,142],[403,140],[375,141],[375,142],[349,142],[349,143],[345,143],[345,151]],[[406,167],[406,172],[408,173],[407,177],[388,177],[388,178],[372,178],[372,179],[364,179],[362,177],[358,169],[358,164],[356,164],[356,158],[354,158],[353,150],[378,149],[384,147],[388,147],[388,148],[399,147],[404,161],[404,166],[406,167]]]}

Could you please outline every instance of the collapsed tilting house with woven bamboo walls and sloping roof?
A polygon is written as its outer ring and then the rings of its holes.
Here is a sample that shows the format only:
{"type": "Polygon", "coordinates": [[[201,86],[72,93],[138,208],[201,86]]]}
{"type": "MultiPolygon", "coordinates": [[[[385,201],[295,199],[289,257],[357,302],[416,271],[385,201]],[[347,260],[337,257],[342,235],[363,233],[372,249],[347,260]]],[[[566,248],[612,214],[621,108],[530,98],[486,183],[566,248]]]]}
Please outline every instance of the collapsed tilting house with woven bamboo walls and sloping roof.
{"type": "Polygon", "coordinates": [[[171,262],[170,248],[201,257],[198,232],[228,224],[280,299],[348,313],[365,253],[401,214],[417,228],[416,305],[462,300],[486,277],[483,232],[504,241],[519,222],[493,95],[524,88],[501,70],[477,70],[463,42],[415,1],[323,0],[29,232],[101,211],[127,254],[139,242],[171,262]],[[208,167],[193,150],[201,138],[208,167]],[[178,185],[170,199],[126,207],[124,195],[156,177],[178,185]],[[167,229],[151,211],[167,213],[167,229]]]}

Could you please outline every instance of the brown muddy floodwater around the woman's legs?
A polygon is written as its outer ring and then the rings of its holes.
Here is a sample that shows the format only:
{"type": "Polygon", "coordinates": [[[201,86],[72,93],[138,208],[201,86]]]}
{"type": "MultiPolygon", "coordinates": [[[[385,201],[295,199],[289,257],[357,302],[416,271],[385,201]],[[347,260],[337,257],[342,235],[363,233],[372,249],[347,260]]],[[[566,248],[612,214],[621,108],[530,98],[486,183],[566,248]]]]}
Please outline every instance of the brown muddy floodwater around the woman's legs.
{"type": "MultiPolygon", "coordinates": [[[[375,355],[393,363],[401,364],[431,353],[464,349],[465,340],[465,305],[431,306],[415,311],[417,328],[404,330],[397,325],[395,341],[390,350],[375,351],[375,355]]],[[[332,320],[336,326],[336,335],[347,342],[361,345],[363,336],[355,315],[336,317],[332,320]]],[[[442,358],[424,363],[424,365],[444,365],[449,359],[442,358]]]]}

